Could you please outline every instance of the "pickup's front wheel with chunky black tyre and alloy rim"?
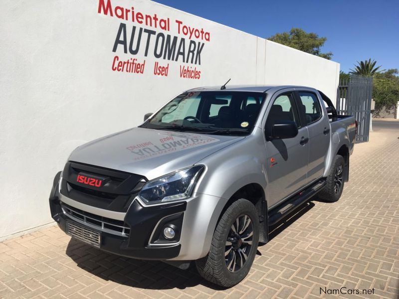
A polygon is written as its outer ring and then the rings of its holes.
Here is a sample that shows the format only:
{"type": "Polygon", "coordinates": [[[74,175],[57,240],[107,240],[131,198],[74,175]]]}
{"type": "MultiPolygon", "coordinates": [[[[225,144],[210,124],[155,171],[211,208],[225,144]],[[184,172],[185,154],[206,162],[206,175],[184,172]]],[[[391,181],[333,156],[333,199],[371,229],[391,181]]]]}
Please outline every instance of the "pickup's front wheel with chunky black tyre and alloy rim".
{"type": "Polygon", "coordinates": [[[216,285],[232,287],[251,269],[258,242],[258,212],[250,201],[238,199],[220,218],[209,253],[196,261],[197,270],[216,285]]]}

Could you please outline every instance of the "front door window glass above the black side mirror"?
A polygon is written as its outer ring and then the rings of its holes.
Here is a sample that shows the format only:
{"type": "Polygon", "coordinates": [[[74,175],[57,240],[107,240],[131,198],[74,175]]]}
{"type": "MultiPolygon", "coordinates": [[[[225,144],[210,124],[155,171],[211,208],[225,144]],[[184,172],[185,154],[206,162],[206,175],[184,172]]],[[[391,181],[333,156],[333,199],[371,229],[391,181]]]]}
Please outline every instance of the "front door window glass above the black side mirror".
{"type": "Polygon", "coordinates": [[[301,126],[292,93],[282,94],[274,100],[267,116],[266,130],[271,132],[273,125],[281,121],[294,121],[298,128],[301,126]]]}

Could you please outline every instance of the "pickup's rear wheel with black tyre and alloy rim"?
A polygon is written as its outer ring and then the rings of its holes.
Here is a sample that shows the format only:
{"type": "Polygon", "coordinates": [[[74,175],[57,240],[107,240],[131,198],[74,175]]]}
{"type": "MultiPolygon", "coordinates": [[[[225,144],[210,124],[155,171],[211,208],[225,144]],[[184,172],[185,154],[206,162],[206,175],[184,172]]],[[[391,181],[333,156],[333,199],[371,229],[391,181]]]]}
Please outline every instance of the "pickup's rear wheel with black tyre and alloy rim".
{"type": "Polygon", "coordinates": [[[323,201],[336,202],[340,199],[345,184],[345,160],[342,155],[337,154],[331,171],[326,179],[327,185],[316,197],[323,201]]]}

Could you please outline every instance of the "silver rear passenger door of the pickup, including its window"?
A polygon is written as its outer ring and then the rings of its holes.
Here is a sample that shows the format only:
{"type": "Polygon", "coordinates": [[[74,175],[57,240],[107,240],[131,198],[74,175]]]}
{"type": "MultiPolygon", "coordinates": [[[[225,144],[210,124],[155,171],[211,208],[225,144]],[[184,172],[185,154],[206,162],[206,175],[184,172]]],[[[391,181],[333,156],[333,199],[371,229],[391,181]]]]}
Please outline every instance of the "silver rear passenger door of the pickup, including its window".
{"type": "Polygon", "coordinates": [[[309,132],[308,182],[323,176],[325,160],[330,146],[330,122],[321,107],[321,98],[314,90],[296,92],[302,124],[309,132]]]}

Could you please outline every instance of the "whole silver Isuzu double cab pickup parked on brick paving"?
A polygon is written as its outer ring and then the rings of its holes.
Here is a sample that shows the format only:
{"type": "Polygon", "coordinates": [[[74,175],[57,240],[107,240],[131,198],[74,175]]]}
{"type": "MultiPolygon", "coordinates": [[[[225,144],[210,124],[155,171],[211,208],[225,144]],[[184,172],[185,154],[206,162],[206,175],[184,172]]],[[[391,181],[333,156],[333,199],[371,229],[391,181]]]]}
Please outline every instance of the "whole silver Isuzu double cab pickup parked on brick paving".
{"type": "Polygon", "coordinates": [[[337,201],[357,123],[300,86],[197,88],[144,123],[75,149],[49,199],[68,235],[162,260],[223,287],[270,228],[309,199],[337,201]]]}

